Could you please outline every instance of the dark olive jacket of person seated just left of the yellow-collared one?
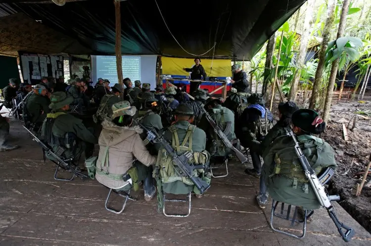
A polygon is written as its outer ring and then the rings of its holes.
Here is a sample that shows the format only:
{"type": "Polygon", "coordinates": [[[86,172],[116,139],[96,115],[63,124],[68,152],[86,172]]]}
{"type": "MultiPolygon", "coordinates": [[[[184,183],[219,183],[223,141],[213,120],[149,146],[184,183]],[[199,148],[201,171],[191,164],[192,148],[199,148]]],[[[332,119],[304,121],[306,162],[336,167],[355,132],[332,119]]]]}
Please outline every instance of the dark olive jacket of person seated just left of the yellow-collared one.
{"type": "Polygon", "coordinates": [[[50,112],[49,100],[46,96],[32,93],[26,100],[26,109],[31,123],[42,123],[50,112]]]}

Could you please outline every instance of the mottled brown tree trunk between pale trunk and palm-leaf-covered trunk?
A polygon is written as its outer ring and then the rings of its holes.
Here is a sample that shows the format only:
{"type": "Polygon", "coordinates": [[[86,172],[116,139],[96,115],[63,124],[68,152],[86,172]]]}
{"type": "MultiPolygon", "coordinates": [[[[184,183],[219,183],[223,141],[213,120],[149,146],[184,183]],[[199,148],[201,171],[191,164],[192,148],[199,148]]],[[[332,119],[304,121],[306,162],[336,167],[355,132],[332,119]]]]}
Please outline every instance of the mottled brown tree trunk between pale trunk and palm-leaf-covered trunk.
{"type": "Polygon", "coordinates": [[[334,15],[334,9],[335,9],[335,0],[328,0],[327,2],[327,18],[325,22],[325,27],[322,35],[322,43],[321,43],[321,49],[319,54],[319,61],[318,66],[316,70],[316,76],[314,78],[313,82],[313,88],[312,88],[312,96],[311,100],[309,102],[309,108],[315,109],[318,106],[318,101],[320,98],[319,94],[319,88],[322,83],[322,75],[325,70],[325,55],[326,55],[326,49],[328,45],[328,41],[330,39],[330,31],[332,23],[335,19],[334,15]]]}

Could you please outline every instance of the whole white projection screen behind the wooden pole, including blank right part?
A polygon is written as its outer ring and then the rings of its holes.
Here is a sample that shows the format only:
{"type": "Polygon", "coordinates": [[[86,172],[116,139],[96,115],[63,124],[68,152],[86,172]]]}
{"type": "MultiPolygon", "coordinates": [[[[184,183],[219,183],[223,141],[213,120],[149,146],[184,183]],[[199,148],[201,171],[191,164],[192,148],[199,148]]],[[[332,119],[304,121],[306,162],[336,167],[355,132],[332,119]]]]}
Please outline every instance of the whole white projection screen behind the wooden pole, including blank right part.
{"type": "MultiPolygon", "coordinates": [[[[123,55],[123,78],[130,78],[134,82],[139,80],[142,84],[151,84],[151,90],[156,87],[156,62],[157,55],[123,55]]],[[[116,56],[92,55],[92,79],[94,84],[98,78],[107,79],[110,86],[117,83],[116,56]]]]}

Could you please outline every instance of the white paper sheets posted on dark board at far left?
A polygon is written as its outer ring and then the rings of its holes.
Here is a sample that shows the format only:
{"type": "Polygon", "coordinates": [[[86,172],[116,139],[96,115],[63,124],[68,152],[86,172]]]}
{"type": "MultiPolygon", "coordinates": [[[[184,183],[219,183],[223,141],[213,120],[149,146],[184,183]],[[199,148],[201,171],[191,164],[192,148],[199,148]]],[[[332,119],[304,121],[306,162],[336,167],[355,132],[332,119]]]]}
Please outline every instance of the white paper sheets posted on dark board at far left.
{"type": "Polygon", "coordinates": [[[63,76],[63,56],[18,51],[23,81],[38,84],[43,77],[63,76]]]}

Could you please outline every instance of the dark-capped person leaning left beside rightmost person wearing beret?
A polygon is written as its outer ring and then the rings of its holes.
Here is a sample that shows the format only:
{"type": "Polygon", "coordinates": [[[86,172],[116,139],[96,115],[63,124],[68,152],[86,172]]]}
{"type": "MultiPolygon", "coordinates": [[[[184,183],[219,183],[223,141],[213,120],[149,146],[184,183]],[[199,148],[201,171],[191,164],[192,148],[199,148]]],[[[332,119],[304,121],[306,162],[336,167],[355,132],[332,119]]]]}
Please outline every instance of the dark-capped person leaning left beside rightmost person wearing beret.
{"type": "MultiPolygon", "coordinates": [[[[260,155],[263,156],[263,153],[269,151],[270,144],[279,136],[286,135],[286,129],[291,127],[291,116],[298,110],[298,106],[294,102],[280,102],[278,104],[278,117],[279,121],[269,130],[268,134],[264,137],[263,141],[260,144],[260,155]]],[[[264,172],[260,176],[260,190],[256,200],[260,208],[265,208],[268,203],[268,192],[267,186],[265,184],[264,172]]]]}

